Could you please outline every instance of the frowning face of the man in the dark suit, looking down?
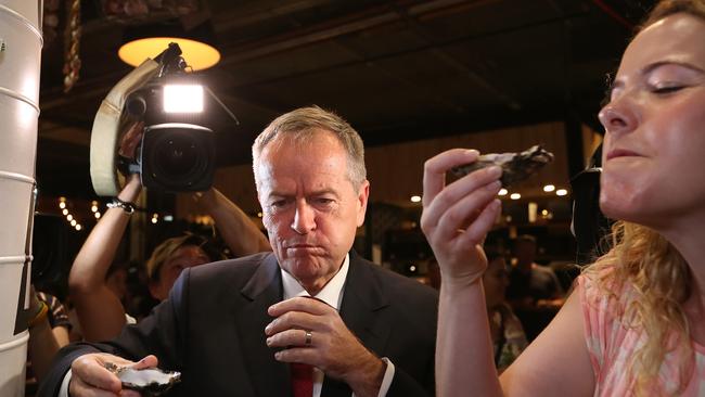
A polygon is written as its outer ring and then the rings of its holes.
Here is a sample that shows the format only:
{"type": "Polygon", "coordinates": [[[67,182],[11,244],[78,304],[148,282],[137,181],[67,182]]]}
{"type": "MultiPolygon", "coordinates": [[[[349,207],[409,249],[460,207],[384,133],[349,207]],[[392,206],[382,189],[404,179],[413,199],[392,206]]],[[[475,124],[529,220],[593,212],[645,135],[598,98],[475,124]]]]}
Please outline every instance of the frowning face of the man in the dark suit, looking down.
{"type": "Polygon", "coordinates": [[[338,271],[364,220],[369,183],[348,179],[347,154],[330,132],[270,142],[257,165],[262,222],[280,266],[316,294],[338,271]]]}

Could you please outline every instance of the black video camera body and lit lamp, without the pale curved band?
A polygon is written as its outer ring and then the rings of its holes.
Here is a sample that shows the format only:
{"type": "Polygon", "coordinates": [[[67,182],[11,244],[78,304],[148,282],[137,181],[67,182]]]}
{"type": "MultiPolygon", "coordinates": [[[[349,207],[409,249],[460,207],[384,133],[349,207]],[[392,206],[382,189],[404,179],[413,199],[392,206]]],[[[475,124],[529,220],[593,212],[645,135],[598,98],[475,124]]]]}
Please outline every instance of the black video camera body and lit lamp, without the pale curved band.
{"type": "Polygon", "coordinates": [[[169,44],[159,55],[159,74],[128,95],[126,110],[144,123],[137,153],[142,185],[203,191],[213,184],[215,135],[204,126],[204,87],[184,72],[180,55],[179,46],[169,44]]]}

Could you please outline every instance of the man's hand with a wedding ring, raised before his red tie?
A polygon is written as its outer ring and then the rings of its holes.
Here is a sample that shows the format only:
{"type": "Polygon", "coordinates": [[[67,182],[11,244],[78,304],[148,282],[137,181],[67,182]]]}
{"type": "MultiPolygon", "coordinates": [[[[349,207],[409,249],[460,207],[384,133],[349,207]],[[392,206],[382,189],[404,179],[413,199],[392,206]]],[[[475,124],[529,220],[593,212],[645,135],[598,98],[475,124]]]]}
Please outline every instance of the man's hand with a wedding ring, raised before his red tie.
{"type": "Polygon", "coordinates": [[[362,346],[333,307],[295,297],[272,305],[269,315],[275,319],[265,329],[267,345],[289,347],[274,354],[277,360],[317,367],[347,383],[356,396],[377,395],[386,364],[362,346]]]}

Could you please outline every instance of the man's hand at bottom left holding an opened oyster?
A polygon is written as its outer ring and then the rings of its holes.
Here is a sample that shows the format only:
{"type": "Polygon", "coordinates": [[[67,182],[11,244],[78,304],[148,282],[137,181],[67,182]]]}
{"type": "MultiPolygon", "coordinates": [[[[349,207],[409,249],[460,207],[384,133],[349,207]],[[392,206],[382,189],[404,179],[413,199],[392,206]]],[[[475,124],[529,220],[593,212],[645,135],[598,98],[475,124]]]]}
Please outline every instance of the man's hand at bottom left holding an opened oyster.
{"type": "Polygon", "coordinates": [[[123,389],[120,380],[113,372],[105,369],[106,362],[112,362],[118,367],[132,367],[136,370],[142,370],[156,367],[158,361],[154,356],[146,356],[139,362],[128,361],[106,353],[80,356],[70,366],[72,377],[68,384],[68,395],[72,397],[115,395],[139,397],[138,392],[123,389]]]}

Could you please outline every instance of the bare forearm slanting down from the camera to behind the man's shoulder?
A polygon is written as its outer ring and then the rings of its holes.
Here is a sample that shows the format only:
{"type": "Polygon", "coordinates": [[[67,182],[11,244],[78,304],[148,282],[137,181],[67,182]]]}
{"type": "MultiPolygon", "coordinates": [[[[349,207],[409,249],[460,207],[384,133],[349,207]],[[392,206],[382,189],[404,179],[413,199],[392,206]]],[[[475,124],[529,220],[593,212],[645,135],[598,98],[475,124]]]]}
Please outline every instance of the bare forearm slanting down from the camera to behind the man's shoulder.
{"type": "Polygon", "coordinates": [[[247,214],[216,188],[196,193],[195,197],[216,221],[218,231],[234,255],[246,256],[271,251],[269,241],[247,214]]]}

